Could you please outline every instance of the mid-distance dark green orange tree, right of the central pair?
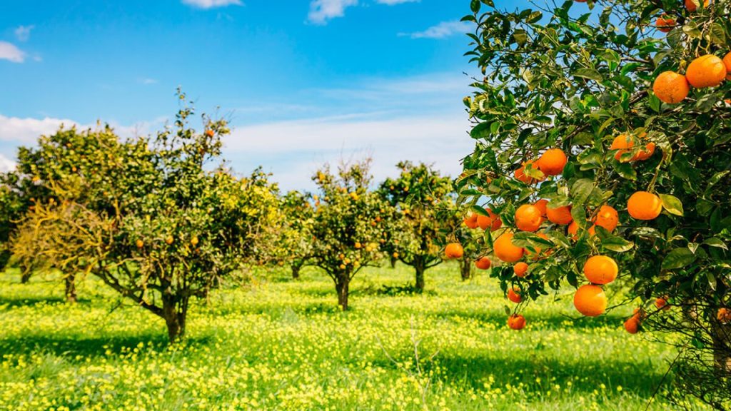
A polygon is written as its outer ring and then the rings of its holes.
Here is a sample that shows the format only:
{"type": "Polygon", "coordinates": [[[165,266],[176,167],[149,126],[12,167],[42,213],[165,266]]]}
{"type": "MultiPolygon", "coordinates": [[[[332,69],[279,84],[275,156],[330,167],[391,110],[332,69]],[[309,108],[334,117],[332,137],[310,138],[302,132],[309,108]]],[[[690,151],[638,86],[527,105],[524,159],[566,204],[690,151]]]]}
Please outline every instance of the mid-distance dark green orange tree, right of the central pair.
{"type": "Polygon", "coordinates": [[[440,244],[436,241],[446,222],[440,218],[439,208],[453,203],[452,182],[440,176],[431,166],[423,163],[399,162],[398,178],[387,178],[378,189],[379,194],[393,208],[400,211],[398,222],[403,229],[395,230],[393,252],[398,259],[415,271],[415,287],[424,290],[424,272],[442,263],[440,244]]]}

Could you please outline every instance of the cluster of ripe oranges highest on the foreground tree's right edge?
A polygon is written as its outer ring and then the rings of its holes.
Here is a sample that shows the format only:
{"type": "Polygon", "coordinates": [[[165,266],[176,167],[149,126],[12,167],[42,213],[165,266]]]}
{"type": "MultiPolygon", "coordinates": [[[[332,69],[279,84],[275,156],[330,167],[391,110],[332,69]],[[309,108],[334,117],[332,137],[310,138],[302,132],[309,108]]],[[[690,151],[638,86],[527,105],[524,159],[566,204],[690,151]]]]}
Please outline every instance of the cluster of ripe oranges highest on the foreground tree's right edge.
{"type": "Polygon", "coordinates": [[[731,80],[731,53],[723,59],[706,54],[691,61],[685,75],[673,71],[660,73],[655,78],[652,91],[660,101],[675,104],[688,97],[691,86],[716,87],[724,80],[731,80]]]}

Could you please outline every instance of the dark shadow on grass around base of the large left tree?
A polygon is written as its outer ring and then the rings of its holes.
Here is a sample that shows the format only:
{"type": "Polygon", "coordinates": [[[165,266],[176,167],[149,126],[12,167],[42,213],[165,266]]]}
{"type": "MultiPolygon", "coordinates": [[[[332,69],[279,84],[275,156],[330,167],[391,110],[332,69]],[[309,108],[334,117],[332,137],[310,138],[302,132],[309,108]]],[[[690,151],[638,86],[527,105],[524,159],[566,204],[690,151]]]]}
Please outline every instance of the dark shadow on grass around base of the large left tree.
{"type": "MultiPolygon", "coordinates": [[[[206,344],[208,336],[188,337],[182,343],[184,346],[206,344]]],[[[159,351],[167,347],[167,336],[163,333],[140,336],[108,336],[108,337],[74,337],[74,336],[23,336],[14,339],[0,339],[0,352],[4,354],[31,354],[34,352],[50,353],[69,361],[85,361],[105,355],[107,350],[118,354],[123,348],[134,349],[140,343],[145,349],[150,347],[159,351]]]]}

